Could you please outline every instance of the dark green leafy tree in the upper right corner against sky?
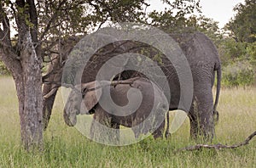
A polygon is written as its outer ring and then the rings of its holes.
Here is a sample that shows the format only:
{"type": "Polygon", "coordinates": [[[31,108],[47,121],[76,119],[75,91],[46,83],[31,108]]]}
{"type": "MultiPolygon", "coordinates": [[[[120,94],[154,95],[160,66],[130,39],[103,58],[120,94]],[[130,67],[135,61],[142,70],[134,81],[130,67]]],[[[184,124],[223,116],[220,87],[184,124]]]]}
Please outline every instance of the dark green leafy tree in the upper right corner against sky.
{"type": "Polygon", "coordinates": [[[233,9],[237,14],[234,19],[226,25],[226,29],[231,31],[231,36],[236,42],[256,41],[256,1],[245,0],[245,4],[238,3],[233,9]]]}

